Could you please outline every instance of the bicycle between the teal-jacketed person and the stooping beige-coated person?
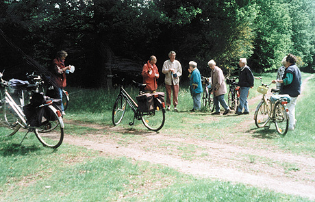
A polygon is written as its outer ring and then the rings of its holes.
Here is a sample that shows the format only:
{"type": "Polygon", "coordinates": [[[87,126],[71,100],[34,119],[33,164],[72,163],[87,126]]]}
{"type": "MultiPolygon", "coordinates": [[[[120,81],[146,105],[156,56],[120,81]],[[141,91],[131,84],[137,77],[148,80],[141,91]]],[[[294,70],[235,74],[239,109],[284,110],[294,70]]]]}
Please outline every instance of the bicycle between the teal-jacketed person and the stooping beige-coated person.
{"type": "Polygon", "coordinates": [[[214,111],[214,94],[212,93],[212,85],[211,85],[211,77],[203,77],[201,76],[202,84],[205,85],[203,88],[203,97],[202,103],[203,108],[207,108],[209,106],[210,112],[214,111]]]}

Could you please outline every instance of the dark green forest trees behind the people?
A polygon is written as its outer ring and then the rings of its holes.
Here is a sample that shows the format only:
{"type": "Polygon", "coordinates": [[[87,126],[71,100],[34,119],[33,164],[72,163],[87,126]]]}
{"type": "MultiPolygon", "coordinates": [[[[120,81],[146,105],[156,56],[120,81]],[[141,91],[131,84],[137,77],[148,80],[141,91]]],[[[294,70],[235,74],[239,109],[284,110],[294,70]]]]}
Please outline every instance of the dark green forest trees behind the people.
{"type": "Polygon", "coordinates": [[[190,60],[205,76],[211,59],[225,74],[237,74],[239,58],[264,73],[287,53],[313,73],[314,24],[314,0],[2,0],[0,71],[23,79],[64,50],[76,68],[68,84],[101,87],[112,73],[135,78],[150,55],[161,72],[173,50],[183,80],[190,60]]]}

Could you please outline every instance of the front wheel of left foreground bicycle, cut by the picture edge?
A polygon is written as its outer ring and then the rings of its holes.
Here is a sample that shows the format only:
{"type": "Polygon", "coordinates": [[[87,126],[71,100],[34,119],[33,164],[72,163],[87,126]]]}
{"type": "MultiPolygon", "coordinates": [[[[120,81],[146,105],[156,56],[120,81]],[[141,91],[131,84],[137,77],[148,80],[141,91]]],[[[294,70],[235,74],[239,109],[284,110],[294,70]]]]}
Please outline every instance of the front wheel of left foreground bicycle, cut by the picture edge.
{"type": "Polygon", "coordinates": [[[1,126],[3,126],[0,129],[0,136],[13,136],[21,128],[20,118],[5,100],[1,100],[0,116],[1,126]]]}

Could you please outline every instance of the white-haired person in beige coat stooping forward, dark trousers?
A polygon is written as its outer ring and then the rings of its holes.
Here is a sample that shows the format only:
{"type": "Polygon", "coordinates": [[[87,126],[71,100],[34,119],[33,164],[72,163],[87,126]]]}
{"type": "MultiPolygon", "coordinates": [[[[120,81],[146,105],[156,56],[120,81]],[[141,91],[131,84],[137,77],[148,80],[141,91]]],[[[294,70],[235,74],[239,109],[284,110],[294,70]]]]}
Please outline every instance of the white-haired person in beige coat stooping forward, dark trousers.
{"type": "Polygon", "coordinates": [[[225,102],[224,94],[227,93],[227,85],[225,84],[225,79],[223,71],[221,68],[216,66],[214,60],[207,62],[207,65],[211,68],[211,80],[212,80],[212,93],[214,94],[214,105],[216,106],[216,112],[212,114],[220,114],[220,104],[223,106],[225,111],[223,115],[230,112],[229,106],[225,102]]]}

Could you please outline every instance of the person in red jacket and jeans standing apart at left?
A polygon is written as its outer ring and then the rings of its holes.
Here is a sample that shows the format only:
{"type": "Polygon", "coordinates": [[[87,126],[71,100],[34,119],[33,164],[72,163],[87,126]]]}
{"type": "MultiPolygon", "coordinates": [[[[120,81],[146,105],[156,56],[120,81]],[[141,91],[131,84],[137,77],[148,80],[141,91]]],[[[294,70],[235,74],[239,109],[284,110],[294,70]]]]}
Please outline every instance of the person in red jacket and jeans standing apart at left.
{"type": "MultiPolygon", "coordinates": [[[[66,53],[66,51],[58,51],[55,59],[53,59],[53,75],[55,84],[58,87],[57,91],[60,99],[62,99],[62,90],[66,87],[66,71],[71,68],[71,66],[64,65],[64,60],[66,60],[67,56],[68,53],[66,53]]],[[[61,103],[61,110],[62,115],[65,115],[63,103],[61,103]]]]}

